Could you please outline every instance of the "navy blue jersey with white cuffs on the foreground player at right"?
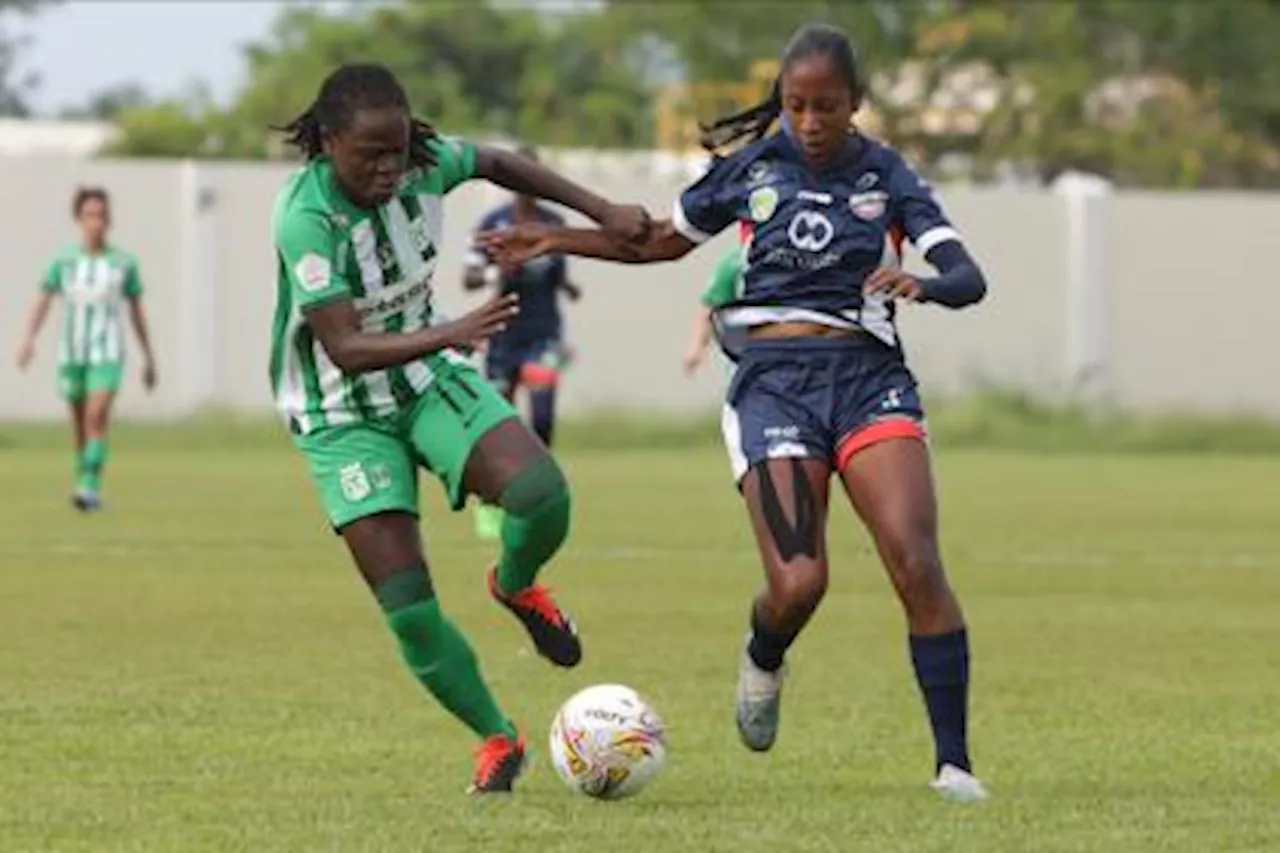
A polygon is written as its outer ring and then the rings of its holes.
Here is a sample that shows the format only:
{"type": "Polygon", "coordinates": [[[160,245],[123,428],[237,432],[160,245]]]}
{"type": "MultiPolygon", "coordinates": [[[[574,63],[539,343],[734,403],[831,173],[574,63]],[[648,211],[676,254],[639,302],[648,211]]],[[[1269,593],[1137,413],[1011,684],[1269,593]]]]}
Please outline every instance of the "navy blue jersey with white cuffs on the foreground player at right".
{"type": "Polygon", "coordinates": [[[751,224],[741,297],[717,313],[730,355],[746,327],[788,320],[860,327],[896,347],[893,306],[864,300],[863,280],[900,264],[904,240],[922,255],[960,240],[902,156],[856,134],[820,170],[786,133],[719,158],[681,193],[672,220],[699,243],[751,224]]]}

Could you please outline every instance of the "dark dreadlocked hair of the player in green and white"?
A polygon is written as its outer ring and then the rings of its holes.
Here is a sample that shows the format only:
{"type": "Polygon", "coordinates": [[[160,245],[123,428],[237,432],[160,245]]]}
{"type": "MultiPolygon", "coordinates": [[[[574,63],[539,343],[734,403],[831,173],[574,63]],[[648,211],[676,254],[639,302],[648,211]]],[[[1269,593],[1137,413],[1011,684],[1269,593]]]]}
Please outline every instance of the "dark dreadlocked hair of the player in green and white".
{"type": "MultiPolygon", "coordinates": [[[[320,85],[316,99],[296,119],[273,129],[285,133],[284,141],[302,151],[307,160],[324,154],[324,136],[351,127],[357,110],[401,108],[408,111],[404,88],[385,67],[374,63],[339,65],[320,85]]],[[[413,168],[435,165],[426,145],[438,138],[435,128],[410,114],[408,161],[413,168]]]]}

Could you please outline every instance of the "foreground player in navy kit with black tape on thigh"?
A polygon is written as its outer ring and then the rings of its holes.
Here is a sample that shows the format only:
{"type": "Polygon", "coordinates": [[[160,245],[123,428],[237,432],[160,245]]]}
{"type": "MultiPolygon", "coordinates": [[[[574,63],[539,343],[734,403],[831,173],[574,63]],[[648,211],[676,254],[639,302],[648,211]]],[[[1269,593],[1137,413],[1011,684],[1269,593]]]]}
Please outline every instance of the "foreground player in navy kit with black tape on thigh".
{"type": "Polygon", "coordinates": [[[741,660],[737,725],[765,751],[778,729],[787,648],[827,588],[824,526],[835,471],[870,530],[906,611],[910,656],[936,744],[931,785],[959,800],[987,794],[969,762],[969,643],[938,556],[924,412],[893,323],[901,302],[957,309],[986,282],[928,186],[902,158],[851,126],[863,99],[844,32],[801,28],[763,104],[707,128],[712,151],[746,140],[681,195],[644,241],[518,225],[485,238],[508,263],[566,252],[668,261],[735,222],[754,228],[745,293],[717,310],[739,360],[723,414],[733,475],[764,560],[741,660]],[[781,133],[768,134],[781,117],[781,133]],[[899,269],[905,234],[938,270],[899,269]]]}

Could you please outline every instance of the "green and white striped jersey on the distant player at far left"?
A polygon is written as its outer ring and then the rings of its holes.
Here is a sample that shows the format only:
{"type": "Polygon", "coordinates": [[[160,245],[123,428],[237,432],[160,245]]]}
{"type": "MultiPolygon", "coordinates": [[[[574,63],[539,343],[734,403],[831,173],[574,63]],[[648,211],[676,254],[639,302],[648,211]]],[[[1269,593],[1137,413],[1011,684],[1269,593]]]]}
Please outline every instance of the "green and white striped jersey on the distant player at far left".
{"type": "Polygon", "coordinates": [[[138,263],[115,246],[87,252],[65,246],[54,257],[40,288],[63,297],[63,333],[58,360],[67,364],[116,364],[124,359],[120,307],[142,296],[138,263]]]}

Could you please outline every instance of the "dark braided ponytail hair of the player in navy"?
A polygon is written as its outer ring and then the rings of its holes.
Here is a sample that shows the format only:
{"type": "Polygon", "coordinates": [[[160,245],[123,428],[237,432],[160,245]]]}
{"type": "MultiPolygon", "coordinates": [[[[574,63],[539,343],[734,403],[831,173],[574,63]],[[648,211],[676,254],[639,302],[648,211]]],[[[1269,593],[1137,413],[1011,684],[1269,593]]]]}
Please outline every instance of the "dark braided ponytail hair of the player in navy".
{"type": "Polygon", "coordinates": [[[820,23],[805,24],[791,36],[786,50],[782,51],[781,70],[778,78],[773,81],[769,96],[755,106],[727,115],[710,126],[699,124],[703,147],[712,154],[718,154],[728,145],[741,140],[755,142],[768,133],[782,114],[782,74],[795,63],[810,56],[829,59],[849,86],[849,91],[855,97],[861,97],[863,81],[854,42],[840,27],[820,23]]]}

